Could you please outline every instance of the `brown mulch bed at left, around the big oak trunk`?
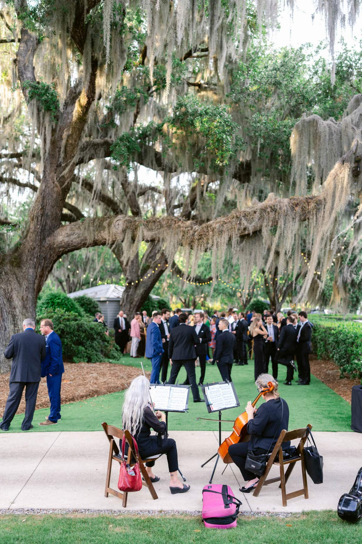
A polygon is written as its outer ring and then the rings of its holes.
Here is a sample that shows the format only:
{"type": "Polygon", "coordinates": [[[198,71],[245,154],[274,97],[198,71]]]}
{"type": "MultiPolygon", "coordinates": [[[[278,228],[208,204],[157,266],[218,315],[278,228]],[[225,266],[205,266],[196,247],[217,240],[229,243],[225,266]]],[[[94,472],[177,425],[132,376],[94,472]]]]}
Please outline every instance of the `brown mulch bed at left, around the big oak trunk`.
{"type": "MultiPolygon", "coordinates": [[[[73,403],[98,395],[116,393],[129,387],[131,381],[142,374],[142,370],[134,367],[112,363],[64,363],[65,372],[61,384],[61,403],[73,403]]],[[[150,373],[145,373],[150,378],[150,373]]],[[[10,373],[0,374],[0,417],[4,413],[9,394],[10,373]]],[[[36,409],[49,406],[47,380],[42,378],[36,398],[36,409]]],[[[16,413],[25,411],[25,389],[20,406],[16,413]]]]}

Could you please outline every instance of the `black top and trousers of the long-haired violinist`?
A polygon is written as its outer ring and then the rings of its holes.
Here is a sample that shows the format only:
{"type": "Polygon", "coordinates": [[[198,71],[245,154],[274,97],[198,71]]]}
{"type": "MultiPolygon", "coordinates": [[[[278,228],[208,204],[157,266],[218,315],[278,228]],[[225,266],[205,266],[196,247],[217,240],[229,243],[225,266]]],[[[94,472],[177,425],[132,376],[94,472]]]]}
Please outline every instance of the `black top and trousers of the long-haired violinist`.
{"type": "MultiPolygon", "coordinates": [[[[179,469],[177,461],[176,442],[173,438],[167,438],[167,427],[163,421],[158,421],[154,412],[149,406],[144,409],[144,421],[140,429],[135,432],[135,440],[138,446],[138,453],[141,459],[147,459],[150,456],[159,453],[166,453],[168,462],[168,471],[176,472],[179,469]],[[151,429],[154,429],[158,434],[151,435],[151,429]]],[[[119,441],[121,447],[122,441],[119,441]]],[[[125,447],[125,454],[128,452],[128,444],[125,447]]],[[[153,467],[155,461],[148,461],[147,467],[153,467]]]]}

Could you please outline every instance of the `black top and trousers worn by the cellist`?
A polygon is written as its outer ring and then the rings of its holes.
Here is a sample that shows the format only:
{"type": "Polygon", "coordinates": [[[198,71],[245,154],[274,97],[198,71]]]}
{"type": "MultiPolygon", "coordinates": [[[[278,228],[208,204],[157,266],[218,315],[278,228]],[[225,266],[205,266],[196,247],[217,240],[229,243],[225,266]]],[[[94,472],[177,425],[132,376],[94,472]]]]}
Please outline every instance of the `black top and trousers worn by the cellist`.
{"type": "MultiPolygon", "coordinates": [[[[261,455],[271,453],[283,429],[288,430],[289,408],[284,399],[270,399],[263,403],[254,414],[254,419],[247,422],[249,442],[239,442],[229,446],[228,453],[243,474],[245,481],[253,480],[255,474],[245,469],[247,450],[261,455]],[[282,418],[283,403],[283,418],[282,418]]],[[[290,442],[283,444],[283,449],[290,447],[290,442]]]]}

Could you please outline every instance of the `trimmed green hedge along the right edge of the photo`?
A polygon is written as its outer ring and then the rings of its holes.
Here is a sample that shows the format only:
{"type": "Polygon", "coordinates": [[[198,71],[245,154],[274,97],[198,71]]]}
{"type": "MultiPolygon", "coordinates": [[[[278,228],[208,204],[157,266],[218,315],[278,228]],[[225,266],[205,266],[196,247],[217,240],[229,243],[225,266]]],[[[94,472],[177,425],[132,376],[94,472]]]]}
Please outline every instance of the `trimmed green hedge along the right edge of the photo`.
{"type": "MultiPolygon", "coordinates": [[[[309,316],[308,316],[309,317],[309,316]]],[[[341,377],[362,379],[362,323],[339,320],[338,316],[310,316],[314,324],[313,352],[318,358],[332,359],[341,377]]]]}

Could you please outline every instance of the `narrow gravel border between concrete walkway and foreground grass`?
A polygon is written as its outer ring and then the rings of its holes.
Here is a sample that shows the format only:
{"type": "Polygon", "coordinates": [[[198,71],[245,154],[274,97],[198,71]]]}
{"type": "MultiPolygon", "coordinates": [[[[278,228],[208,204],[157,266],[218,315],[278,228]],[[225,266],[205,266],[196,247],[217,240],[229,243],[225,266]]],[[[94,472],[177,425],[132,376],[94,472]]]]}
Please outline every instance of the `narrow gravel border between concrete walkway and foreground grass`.
{"type": "MultiPolygon", "coordinates": [[[[92,510],[88,508],[72,509],[52,509],[52,508],[1,508],[0,516],[43,516],[47,514],[66,515],[83,514],[84,516],[201,516],[199,510],[92,510]]],[[[239,516],[272,516],[272,517],[290,517],[297,516],[301,512],[239,512],[239,516]]]]}

